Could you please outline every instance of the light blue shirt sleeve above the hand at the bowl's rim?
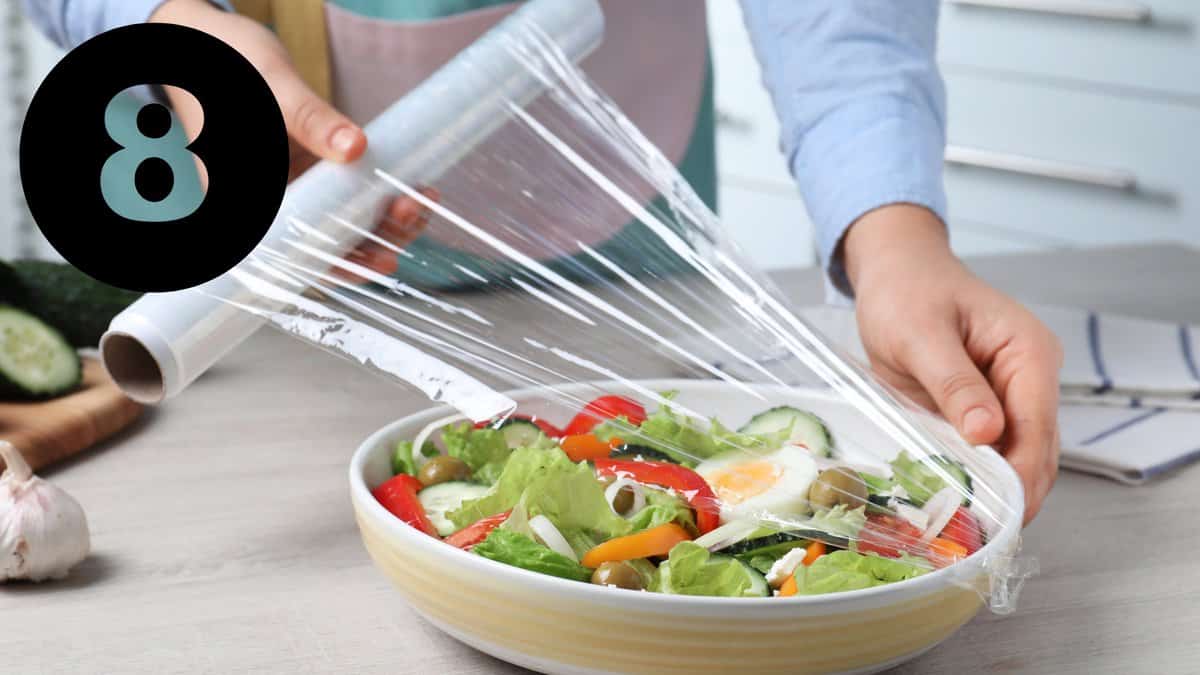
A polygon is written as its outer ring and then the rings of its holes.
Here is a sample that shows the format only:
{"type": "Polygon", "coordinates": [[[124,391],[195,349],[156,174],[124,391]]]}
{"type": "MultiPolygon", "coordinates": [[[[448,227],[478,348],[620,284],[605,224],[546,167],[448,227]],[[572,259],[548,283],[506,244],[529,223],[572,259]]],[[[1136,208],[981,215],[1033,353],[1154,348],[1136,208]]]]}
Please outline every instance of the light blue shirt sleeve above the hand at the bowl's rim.
{"type": "Polygon", "coordinates": [[[848,295],[833,258],[859,216],[911,203],[946,222],[938,0],[742,0],[742,8],[829,282],[848,295]]]}

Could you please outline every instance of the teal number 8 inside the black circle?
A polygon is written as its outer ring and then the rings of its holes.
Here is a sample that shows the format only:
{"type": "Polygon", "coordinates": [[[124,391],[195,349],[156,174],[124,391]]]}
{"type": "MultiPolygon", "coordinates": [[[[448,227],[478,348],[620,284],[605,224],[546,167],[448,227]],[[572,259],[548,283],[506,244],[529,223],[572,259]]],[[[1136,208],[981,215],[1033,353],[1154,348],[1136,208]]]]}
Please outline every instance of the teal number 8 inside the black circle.
{"type": "Polygon", "coordinates": [[[185,179],[198,175],[198,157],[187,149],[184,130],[172,115],[167,133],[158,138],[145,136],[138,129],[137,115],[130,114],[128,102],[122,101],[125,97],[118,94],[104,108],[104,129],[121,147],[100,171],[104,203],[116,215],[139,222],[170,222],[192,215],[204,202],[204,191],[185,184],[185,179]],[[155,157],[170,167],[173,184],[166,197],[151,202],[138,191],[136,177],[138,167],[155,157]]]}

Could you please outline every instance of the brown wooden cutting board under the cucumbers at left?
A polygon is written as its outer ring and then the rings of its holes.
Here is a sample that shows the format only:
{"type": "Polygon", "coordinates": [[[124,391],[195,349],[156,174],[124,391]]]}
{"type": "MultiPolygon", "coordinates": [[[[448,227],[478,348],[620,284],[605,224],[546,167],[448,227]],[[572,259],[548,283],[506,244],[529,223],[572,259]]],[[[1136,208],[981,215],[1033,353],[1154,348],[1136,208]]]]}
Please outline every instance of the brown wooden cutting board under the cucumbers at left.
{"type": "Polygon", "coordinates": [[[49,401],[0,402],[0,438],[37,471],[108,438],[140,413],[142,406],[121,394],[100,362],[84,359],[78,392],[49,401]]]}

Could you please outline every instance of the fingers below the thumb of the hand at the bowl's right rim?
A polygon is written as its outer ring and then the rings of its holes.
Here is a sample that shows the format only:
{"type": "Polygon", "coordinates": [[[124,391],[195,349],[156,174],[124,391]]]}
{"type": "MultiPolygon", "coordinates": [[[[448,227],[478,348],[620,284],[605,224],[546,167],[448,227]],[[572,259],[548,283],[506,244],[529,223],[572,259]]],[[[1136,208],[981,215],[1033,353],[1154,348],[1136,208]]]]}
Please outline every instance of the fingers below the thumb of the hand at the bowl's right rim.
{"type": "MultiPolygon", "coordinates": [[[[1040,327],[1038,327],[1040,329],[1040,327]]],[[[1040,329],[1044,331],[1044,329],[1040,329]]],[[[1058,474],[1058,351],[1046,334],[1001,359],[1013,375],[1004,388],[1008,432],[1004,455],[1025,485],[1025,522],[1033,520],[1058,474]]]]}

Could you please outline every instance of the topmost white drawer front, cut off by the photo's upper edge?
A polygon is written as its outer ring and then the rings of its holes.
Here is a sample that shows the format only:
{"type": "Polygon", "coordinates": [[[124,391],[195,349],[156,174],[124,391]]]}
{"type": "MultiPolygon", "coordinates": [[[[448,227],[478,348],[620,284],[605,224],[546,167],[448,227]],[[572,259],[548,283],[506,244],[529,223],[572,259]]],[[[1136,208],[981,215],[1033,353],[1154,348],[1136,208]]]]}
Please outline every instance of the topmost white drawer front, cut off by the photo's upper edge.
{"type": "Polygon", "coordinates": [[[1198,0],[943,0],[940,34],[947,70],[1200,96],[1198,0]]]}

